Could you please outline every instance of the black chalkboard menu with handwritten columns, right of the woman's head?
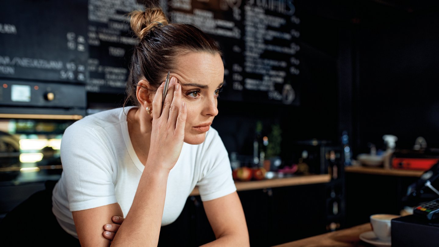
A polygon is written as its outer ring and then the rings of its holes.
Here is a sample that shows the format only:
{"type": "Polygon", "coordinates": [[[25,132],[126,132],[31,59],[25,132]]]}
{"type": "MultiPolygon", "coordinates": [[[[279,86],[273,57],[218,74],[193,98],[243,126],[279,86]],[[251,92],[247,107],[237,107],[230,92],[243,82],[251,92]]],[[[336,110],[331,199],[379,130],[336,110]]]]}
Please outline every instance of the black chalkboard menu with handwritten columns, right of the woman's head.
{"type": "Polygon", "coordinates": [[[299,104],[300,19],[292,0],[169,0],[169,16],[219,41],[226,82],[221,97],[299,104]]]}

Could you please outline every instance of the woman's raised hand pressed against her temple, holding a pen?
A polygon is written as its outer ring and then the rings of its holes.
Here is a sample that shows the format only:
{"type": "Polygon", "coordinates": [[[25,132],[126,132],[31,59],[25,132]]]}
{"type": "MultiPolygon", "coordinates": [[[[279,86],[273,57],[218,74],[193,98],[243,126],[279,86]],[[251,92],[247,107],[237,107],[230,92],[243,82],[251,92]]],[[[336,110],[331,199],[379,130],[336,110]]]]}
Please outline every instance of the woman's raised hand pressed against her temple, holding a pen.
{"type": "Polygon", "coordinates": [[[145,168],[171,170],[181,153],[187,108],[181,100],[181,86],[175,76],[170,79],[163,101],[165,82],[157,89],[152,101],[152,131],[148,161],[145,168]]]}

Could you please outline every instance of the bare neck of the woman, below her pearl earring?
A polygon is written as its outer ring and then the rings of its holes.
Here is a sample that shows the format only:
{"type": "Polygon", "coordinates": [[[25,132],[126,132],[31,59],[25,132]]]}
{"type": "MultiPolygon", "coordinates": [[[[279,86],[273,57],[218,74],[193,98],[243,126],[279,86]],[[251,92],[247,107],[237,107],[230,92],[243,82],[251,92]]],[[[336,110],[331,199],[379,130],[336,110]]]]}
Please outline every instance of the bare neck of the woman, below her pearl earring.
{"type": "Polygon", "coordinates": [[[133,107],[128,111],[126,121],[134,151],[140,162],[145,165],[151,143],[152,116],[139,107],[133,107]]]}

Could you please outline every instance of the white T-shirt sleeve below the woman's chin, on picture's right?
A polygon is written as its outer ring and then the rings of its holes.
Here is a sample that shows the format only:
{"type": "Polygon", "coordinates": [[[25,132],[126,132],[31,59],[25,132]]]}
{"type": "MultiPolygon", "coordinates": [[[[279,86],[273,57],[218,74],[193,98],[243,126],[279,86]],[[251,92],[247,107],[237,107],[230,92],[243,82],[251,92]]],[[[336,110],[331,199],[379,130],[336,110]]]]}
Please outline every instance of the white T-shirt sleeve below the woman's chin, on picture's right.
{"type": "Polygon", "coordinates": [[[213,134],[210,141],[206,135],[208,143],[204,143],[205,151],[201,159],[204,165],[202,178],[197,183],[202,201],[213,200],[236,191],[227,150],[218,132],[213,131],[209,133],[213,134]]]}

